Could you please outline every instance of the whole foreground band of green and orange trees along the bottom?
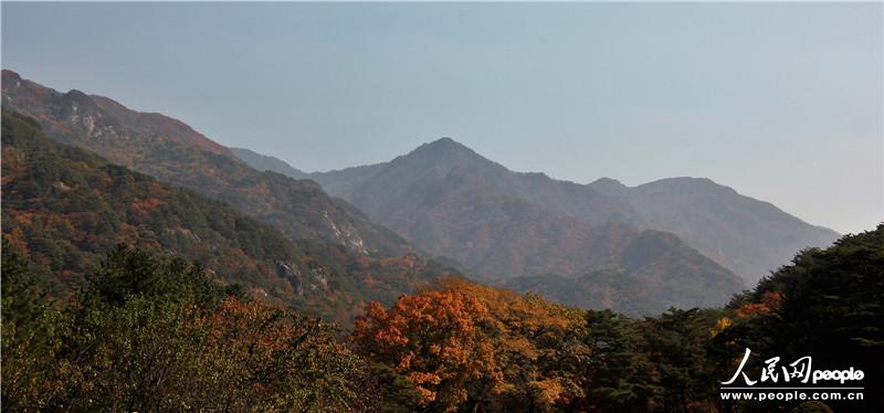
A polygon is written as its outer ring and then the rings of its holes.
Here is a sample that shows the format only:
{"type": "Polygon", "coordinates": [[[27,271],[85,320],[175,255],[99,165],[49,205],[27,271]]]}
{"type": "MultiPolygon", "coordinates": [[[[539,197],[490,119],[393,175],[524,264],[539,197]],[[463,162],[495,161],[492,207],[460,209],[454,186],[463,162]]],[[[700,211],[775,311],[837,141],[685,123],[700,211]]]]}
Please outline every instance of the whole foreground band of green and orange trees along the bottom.
{"type": "Polygon", "coordinates": [[[336,326],[212,280],[198,264],[110,248],[75,298],[4,243],[2,404],[10,411],[875,411],[863,402],[734,402],[751,349],[856,367],[880,389],[884,225],[807,250],[724,308],[645,318],[459,277],[370,303],[336,326]],[[857,404],[859,403],[859,404],[857,404]],[[857,406],[862,406],[857,409],[857,406]]]}

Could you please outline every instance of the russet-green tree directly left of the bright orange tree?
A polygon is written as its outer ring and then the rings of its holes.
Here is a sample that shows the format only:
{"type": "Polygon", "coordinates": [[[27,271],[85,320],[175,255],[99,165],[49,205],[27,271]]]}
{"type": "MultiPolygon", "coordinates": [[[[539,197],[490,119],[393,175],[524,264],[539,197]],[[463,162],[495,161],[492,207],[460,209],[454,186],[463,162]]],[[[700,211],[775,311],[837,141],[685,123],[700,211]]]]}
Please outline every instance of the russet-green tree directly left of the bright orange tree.
{"type": "Polygon", "coordinates": [[[190,391],[217,400],[210,410],[346,410],[361,361],[335,338],[335,327],[259,301],[227,298],[197,322],[206,332],[190,391]]]}

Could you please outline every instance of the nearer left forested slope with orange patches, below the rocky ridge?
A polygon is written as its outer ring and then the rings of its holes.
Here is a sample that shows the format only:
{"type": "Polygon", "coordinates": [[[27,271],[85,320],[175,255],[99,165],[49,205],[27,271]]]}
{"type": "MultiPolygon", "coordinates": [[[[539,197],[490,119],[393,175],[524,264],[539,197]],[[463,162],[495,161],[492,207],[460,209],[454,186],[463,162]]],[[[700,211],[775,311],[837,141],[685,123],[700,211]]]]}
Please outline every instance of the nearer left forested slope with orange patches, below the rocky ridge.
{"type": "Polygon", "coordinates": [[[198,261],[219,282],[343,322],[361,301],[390,304],[450,272],[413,254],[293,242],[222,202],[49,139],[35,120],[7,110],[2,159],[3,240],[60,297],[118,243],[198,261]]]}

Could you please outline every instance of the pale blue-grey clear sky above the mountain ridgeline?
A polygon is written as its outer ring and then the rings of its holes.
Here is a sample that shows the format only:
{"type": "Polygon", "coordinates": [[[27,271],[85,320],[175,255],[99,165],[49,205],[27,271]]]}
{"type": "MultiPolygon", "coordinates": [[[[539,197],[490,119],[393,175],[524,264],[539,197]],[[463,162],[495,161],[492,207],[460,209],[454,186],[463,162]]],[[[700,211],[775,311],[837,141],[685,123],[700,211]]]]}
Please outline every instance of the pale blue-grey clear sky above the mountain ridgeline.
{"type": "Polygon", "coordinates": [[[513,170],[706,177],[884,221],[870,3],[12,3],[2,66],[306,170],[451,137],[513,170]]]}

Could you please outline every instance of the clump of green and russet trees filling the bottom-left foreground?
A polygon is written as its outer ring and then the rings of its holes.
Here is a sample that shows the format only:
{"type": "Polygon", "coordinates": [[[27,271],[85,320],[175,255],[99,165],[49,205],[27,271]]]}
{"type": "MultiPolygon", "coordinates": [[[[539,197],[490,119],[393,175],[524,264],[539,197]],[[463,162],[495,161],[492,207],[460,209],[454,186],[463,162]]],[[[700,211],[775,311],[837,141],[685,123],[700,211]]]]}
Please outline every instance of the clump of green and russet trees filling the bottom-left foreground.
{"type": "Polygon", "coordinates": [[[364,366],[333,325],[249,299],[198,265],[120,245],[64,318],[24,268],[4,248],[7,409],[361,409],[351,382],[364,366]]]}

